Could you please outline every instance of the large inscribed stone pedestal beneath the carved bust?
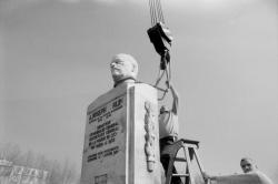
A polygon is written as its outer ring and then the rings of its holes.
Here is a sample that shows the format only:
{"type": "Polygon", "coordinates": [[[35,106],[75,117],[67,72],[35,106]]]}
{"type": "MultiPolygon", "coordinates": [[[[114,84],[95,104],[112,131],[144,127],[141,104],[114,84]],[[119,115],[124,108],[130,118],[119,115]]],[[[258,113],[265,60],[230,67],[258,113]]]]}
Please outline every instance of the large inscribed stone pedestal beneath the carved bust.
{"type": "Polygon", "coordinates": [[[82,184],[161,184],[157,90],[122,84],[87,111],[82,184]]]}

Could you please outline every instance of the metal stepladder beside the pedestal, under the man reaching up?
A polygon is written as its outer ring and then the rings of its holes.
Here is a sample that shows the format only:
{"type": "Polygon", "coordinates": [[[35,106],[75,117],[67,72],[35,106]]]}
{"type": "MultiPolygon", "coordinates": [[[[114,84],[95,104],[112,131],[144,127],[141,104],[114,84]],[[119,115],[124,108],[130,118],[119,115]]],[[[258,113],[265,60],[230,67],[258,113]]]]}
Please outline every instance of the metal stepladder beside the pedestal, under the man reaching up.
{"type": "Polygon", "coordinates": [[[185,140],[180,139],[176,141],[171,146],[169,146],[168,150],[166,150],[163,153],[161,153],[161,156],[170,156],[169,157],[169,166],[168,171],[166,174],[166,184],[171,184],[171,178],[172,177],[183,177],[183,184],[206,184],[206,180],[202,175],[203,173],[203,167],[200,163],[199,155],[198,155],[198,150],[199,147],[199,142],[193,141],[193,140],[185,140]],[[177,153],[182,149],[183,155],[181,157],[177,157],[177,153]],[[185,164],[185,171],[186,173],[172,173],[172,168],[175,165],[175,162],[181,162],[182,165],[185,164]],[[195,181],[193,171],[192,168],[192,162],[196,162],[199,175],[201,176],[201,181],[195,181]]]}

